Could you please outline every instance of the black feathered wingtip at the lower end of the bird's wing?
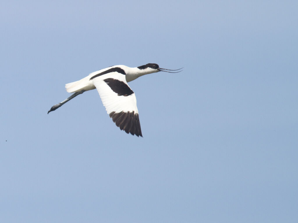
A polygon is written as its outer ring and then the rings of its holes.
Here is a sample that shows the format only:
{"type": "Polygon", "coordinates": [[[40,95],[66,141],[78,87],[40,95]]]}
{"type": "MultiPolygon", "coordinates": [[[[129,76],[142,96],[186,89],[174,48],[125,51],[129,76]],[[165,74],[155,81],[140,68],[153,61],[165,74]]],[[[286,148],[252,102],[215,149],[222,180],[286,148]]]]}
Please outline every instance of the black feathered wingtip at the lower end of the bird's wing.
{"type": "MultiPolygon", "coordinates": [[[[142,136],[139,114],[133,112],[111,112],[110,117],[113,122],[127,134],[142,136]]],[[[142,136],[143,137],[143,136],[142,136]]]]}

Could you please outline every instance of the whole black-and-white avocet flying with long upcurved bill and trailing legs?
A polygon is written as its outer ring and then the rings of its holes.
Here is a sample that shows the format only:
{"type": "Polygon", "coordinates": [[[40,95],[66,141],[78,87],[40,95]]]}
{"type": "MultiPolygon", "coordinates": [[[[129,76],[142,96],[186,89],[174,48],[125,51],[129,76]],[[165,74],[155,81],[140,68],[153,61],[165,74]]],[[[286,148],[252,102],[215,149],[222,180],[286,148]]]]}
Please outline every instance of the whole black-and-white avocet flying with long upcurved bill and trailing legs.
{"type": "MultiPolygon", "coordinates": [[[[79,81],[66,84],[66,91],[74,92],[74,94],[52,106],[48,114],[77,95],[96,88],[113,122],[126,133],[142,136],[139,112],[136,107],[136,95],[127,82],[133,81],[145,74],[159,71],[170,72],[169,69],[160,68],[157,64],[153,63],[139,67],[116,65],[95,71],[79,81]]],[[[178,73],[180,71],[170,73],[178,73]]]]}

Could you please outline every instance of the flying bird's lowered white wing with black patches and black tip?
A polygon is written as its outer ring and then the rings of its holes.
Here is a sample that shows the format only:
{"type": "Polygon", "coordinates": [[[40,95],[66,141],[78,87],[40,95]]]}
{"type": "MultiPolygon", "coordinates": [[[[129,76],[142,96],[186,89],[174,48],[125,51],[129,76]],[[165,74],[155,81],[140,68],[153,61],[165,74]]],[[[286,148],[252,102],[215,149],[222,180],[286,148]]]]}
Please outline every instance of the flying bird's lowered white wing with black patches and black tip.
{"type": "Polygon", "coordinates": [[[142,136],[136,95],[128,86],[123,70],[110,70],[110,73],[95,75],[90,80],[113,122],[126,133],[142,136]]]}

